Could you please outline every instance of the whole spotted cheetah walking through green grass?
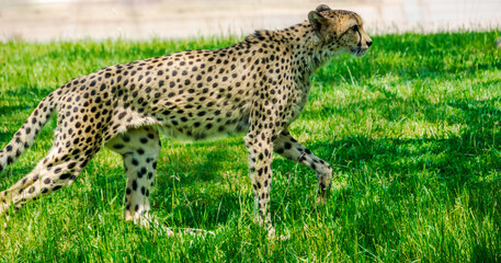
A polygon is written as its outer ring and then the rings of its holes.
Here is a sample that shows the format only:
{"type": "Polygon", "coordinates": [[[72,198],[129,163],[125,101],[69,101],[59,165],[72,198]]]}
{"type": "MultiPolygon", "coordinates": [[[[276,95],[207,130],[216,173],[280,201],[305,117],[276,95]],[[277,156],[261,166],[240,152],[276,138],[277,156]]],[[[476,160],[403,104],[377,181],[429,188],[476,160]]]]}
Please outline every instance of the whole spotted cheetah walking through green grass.
{"type": "Polygon", "coordinates": [[[194,140],[246,133],[255,220],[273,236],[273,152],[316,172],[320,202],[332,181],[331,167],[288,130],[308,99],[311,73],[335,55],[363,56],[371,45],[358,14],[321,4],[303,23],[255,31],[225,48],[174,53],[72,79],[43,99],[0,151],[2,171],[57,111],[50,150],[0,193],[0,215],[70,185],[105,146],[124,160],[125,220],[146,226],[160,133],[194,140]]]}

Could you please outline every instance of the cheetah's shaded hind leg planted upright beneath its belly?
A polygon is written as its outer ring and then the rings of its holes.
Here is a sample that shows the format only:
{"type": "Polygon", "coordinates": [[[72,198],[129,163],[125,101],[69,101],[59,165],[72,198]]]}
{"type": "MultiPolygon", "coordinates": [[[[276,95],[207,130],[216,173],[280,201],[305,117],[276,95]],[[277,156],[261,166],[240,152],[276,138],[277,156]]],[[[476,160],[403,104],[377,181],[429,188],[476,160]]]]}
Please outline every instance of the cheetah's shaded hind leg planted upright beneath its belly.
{"type": "MultiPolygon", "coordinates": [[[[122,155],[127,174],[125,188],[126,221],[143,227],[161,228],[168,236],[174,236],[174,231],[161,224],[150,214],[149,195],[157,172],[157,160],[161,151],[160,137],[152,127],[140,127],[117,135],[105,145],[113,151],[122,155]]],[[[202,229],[182,228],[185,235],[213,233],[202,229]]]]}

